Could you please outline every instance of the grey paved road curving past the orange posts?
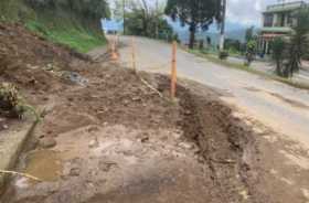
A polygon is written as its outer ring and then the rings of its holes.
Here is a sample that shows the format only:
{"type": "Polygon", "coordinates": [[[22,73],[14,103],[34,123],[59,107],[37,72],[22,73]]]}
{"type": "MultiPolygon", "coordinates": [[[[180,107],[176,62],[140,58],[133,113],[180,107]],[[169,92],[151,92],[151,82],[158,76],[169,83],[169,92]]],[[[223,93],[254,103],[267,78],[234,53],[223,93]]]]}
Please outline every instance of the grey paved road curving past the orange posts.
{"type": "MultiPolygon", "coordinates": [[[[121,38],[129,45],[129,38],[121,38]]],[[[137,64],[142,71],[169,73],[171,47],[163,42],[136,39],[137,64]]],[[[131,62],[131,47],[120,50],[121,62],[131,62]]],[[[309,146],[309,92],[227,68],[207,60],[178,51],[178,73],[202,84],[224,90],[222,99],[279,133],[309,146]]]]}

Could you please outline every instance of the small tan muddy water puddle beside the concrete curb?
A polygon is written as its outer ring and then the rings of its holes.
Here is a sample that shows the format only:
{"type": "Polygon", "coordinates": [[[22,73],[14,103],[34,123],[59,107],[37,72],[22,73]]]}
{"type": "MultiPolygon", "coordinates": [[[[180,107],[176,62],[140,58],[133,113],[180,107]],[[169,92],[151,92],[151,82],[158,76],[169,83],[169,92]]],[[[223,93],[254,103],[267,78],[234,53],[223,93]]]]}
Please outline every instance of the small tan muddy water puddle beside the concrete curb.
{"type": "Polygon", "coordinates": [[[28,156],[24,172],[43,181],[53,182],[60,178],[62,169],[61,159],[55,151],[40,150],[28,156]]]}

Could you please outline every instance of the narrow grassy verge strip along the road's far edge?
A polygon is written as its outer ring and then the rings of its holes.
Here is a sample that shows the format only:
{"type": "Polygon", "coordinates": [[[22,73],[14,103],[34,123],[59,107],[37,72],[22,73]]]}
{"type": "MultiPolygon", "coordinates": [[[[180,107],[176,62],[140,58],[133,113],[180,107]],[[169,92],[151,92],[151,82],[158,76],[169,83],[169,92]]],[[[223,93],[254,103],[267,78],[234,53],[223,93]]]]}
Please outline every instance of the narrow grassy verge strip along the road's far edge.
{"type": "Polygon", "coordinates": [[[241,70],[241,71],[245,71],[245,72],[248,72],[248,73],[253,73],[253,74],[263,76],[265,78],[274,79],[274,81],[277,81],[277,82],[290,85],[292,87],[297,87],[297,88],[301,88],[301,89],[309,89],[309,83],[307,84],[307,83],[294,82],[294,81],[291,81],[289,78],[284,78],[284,77],[279,77],[277,75],[267,74],[265,72],[260,72],[260,71],[254,70],[252,67],[248,67],[248,66],[246,66],[244,64],[238,64],[238,63],[233,63],[233,62],[220,60],[216,55],[201,53],[198,50],[187,50],[187,51],[189,53],[192,53],[192,54],[194,54],[196,56],[200,56],[200,57],[204,57],[204,58],[209,60],[212,63],[215,63],[215,64],[219,64],[219,65],[222,65],[222,66],[225,66],[225,67],[241,70]]]}

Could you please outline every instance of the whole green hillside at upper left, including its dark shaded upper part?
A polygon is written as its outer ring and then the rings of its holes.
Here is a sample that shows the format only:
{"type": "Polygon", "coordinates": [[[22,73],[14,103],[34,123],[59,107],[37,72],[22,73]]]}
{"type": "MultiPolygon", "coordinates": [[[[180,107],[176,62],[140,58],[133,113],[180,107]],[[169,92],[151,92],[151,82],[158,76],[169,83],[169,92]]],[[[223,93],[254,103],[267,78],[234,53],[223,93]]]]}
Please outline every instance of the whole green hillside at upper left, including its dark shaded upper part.
{"type": "Polygon", "coordinates": [[[109,17],[106,1],[6,0],[0,1],[0,13],[1,21],[22,23],[79,52],[106,42],[99,23],[100,18],[109,17]]]}

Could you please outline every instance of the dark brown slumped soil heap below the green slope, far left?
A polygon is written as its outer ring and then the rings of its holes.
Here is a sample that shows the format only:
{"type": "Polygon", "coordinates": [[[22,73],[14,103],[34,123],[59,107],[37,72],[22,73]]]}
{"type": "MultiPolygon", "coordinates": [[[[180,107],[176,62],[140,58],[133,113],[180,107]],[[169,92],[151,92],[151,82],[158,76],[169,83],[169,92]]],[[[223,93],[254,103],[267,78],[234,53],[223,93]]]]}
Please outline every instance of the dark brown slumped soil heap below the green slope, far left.
{"type": "Polygon", "coordinates": [[[0,24],[0,82],[53,90],[60,81],[53,73],[72,70],[73,61],[83,64],[88,57],[47,42],[20,24],[0,24]]]}

